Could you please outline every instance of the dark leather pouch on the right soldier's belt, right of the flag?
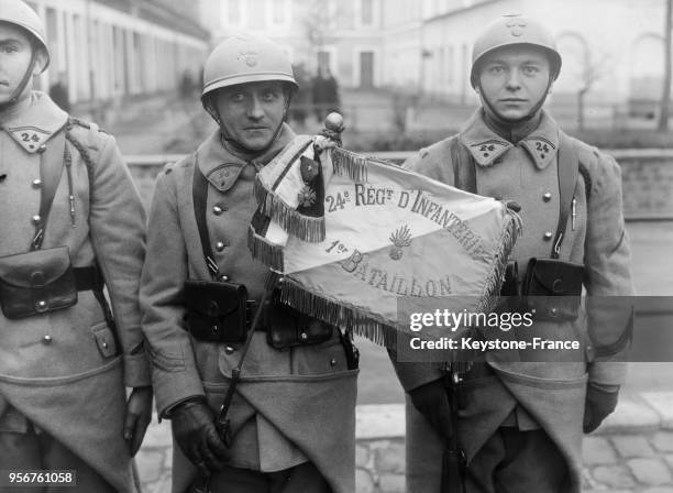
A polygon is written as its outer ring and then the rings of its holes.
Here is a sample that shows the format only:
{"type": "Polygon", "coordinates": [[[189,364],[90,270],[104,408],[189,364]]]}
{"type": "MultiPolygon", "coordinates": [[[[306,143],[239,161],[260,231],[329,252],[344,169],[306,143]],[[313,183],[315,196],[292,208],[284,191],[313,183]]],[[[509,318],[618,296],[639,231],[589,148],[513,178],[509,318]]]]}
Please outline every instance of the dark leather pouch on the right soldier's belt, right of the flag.
{"type": "Polygon", "coordinates": [[[575,320],[583,278],[582,264],[559,259],[531,259],[521,286],[522,309],[532,311],[537,320],[575,320]]]}

